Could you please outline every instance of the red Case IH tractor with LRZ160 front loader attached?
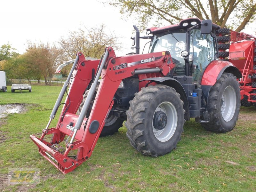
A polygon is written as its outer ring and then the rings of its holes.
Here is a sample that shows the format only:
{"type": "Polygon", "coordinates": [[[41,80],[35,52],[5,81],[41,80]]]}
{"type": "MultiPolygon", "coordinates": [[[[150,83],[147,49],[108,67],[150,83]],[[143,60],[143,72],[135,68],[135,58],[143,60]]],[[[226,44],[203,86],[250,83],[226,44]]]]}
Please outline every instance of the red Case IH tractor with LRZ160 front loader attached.
{"type": "Polygon", "coordinates": [[[132,147],[149,156],[171,152],[185,120],[192,117],[214,132],[236,125],[236,79],[242,75],[231,62],[218,60],[218,25],[190,18],[178,25],[148,28],[147,37],[134,28],[135,53],[117,57],[108,47],[100,60],[86,60],[77,53],[42,136],[30,135],[40,154],[62,173],[86,161],[100,135],[117,132],[125,120],[132,147]],[[150,39],[149,53],[139,54],[140,38],[150,39]],[[50,128],[61,104],[58,123],[50,128]],[[52,139],[46,141],[46,135],[52,139]]]}

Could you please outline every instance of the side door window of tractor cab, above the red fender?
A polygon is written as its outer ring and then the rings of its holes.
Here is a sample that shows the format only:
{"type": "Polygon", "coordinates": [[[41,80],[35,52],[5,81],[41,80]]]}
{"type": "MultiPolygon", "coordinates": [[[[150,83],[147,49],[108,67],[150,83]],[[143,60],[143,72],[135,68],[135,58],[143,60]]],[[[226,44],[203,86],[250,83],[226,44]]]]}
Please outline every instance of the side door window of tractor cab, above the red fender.
{"type": "Polygon", "coordinates": [[[211,34],[201,34],[200,29],[190,32],[190,54],[194,54],[194,70],[192,76],[194,82],[198,83],[203,70],[214,60],[214,39],[211,34]]]}

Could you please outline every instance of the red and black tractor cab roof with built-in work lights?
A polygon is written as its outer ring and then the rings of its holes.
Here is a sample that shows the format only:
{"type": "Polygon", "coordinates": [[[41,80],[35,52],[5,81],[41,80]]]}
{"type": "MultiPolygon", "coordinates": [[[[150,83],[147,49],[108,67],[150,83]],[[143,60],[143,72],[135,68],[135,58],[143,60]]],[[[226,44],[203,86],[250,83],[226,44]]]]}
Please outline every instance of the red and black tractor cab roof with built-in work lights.
{"type": "MultiPolygon", "coordinates": [[[[161,33],[163,31],[166,30],[173,30],[173,29],[187,29],[189,27],[192,27],[198,23],[201,23],[202,20],[198,19],[198,18],[188,18],[188,19],[183,19],[180,21],[179,24],[175,24],[175,25],[167,25],[164,27],[151,27],[151,28],[147,28],[146,30],[150,32],[150,34],[157,34],[157,33],[161,33]],[[192,23],[194,22],[194,23],[192,23]],[[191,24],[192,23],[192,24],[191,24]]],[[[212,23],[212,31],[218,30],[220,29],[219,25],[216,25],[214,23],[212,23]]]]}

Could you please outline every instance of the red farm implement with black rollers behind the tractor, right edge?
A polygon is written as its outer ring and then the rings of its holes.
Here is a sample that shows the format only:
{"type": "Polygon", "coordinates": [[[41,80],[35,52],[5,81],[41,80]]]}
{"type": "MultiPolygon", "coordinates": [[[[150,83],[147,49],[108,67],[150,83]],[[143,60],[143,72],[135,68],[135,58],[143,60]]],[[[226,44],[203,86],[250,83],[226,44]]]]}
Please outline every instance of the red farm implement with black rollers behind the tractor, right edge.
{"type": "Polygon", "coordinates": [[[241,106],[256,106],[256,37],[221,28],[217,31],[219,55],[228,59],[242,73],[240,78],[241,106]],[[226,51],[229,49],[229,51],[226,51]]]}

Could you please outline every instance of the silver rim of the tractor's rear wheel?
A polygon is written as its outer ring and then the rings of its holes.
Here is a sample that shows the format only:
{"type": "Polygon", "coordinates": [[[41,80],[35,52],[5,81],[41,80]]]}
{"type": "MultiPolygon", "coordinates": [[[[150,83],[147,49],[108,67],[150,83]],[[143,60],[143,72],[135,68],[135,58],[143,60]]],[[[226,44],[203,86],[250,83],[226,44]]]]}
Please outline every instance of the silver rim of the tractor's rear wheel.
{"type": "Polygon", "coordinates": [[[221,96],[220,110],[226,122],[233,118],[236,111],[236,92],[232,86],[227,86],[224,90],[221,96]]]}

